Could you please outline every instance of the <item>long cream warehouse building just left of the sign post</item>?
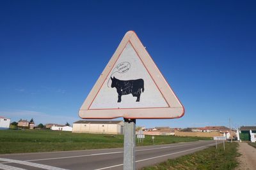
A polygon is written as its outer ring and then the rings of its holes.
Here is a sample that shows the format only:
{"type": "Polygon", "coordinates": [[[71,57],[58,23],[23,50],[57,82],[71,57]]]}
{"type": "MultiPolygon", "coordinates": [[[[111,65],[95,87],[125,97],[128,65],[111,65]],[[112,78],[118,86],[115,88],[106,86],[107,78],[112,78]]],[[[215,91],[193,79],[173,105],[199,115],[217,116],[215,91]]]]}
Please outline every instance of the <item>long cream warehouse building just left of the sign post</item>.
{"type": "Polygon", "coordinates": [[[117,120],[79,120],[73,123],[76,133],[124,134],[124,122],[117,120]]]}

